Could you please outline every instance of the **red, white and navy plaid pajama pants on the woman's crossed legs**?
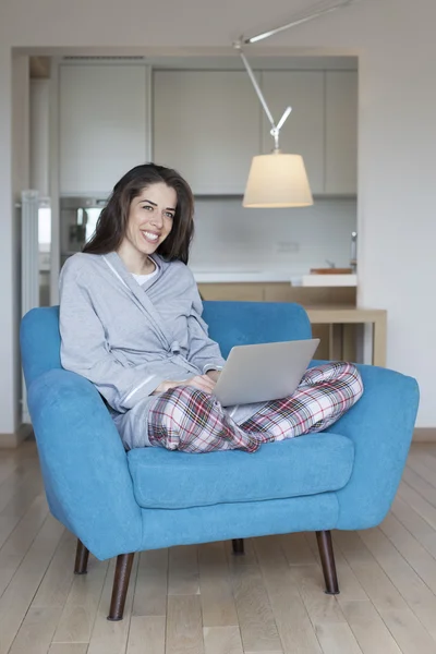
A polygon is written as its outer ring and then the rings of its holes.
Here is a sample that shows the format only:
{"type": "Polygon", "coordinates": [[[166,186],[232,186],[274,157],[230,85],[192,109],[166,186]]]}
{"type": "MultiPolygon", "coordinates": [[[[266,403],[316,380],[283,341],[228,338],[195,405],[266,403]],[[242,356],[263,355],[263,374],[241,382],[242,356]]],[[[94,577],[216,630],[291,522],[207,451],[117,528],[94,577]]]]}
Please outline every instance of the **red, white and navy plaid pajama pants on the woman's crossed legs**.
{"type": "Polygon", "coordinates": [[[334,362],[306,371],[295,392],[265,402],[238,425],[210,395],[177,386],[156,396],[147,419],[152,446],[185,452],[257,450],[332,425],[360,399],[363,384],[351,363],[334,362]]]}

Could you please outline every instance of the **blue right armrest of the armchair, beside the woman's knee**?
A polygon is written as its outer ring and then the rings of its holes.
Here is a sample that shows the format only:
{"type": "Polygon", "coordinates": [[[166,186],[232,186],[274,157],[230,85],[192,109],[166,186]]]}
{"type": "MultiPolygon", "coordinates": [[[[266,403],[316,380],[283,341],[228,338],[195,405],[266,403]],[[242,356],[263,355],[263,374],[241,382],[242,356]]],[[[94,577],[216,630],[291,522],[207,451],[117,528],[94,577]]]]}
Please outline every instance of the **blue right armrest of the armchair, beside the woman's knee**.
{"type": "Polygon", "coordinates": [[[354,443],[353,472],[337,493],[337,528],[379,524],[397,493],[411,445],[420,391],[417,383],[395,371],[358,365],[364,393],[330,429],[354,443]]]}

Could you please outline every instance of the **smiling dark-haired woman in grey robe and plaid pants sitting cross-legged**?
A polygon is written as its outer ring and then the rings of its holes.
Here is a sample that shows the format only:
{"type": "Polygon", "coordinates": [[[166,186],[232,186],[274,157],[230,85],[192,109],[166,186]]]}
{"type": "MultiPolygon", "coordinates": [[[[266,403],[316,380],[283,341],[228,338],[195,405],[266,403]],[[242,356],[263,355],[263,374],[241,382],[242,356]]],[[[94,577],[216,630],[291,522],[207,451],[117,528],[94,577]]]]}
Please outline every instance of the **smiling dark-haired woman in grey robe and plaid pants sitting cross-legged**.
{"type": "Polygon", "coordinates": [[[126,449],[255,451],[325,429],[362,395],[352,364],[312,368],[289,398],[223,408],[214,396],[226,362],[185,265],[193,213],[174,170],[137,166],[116,184],[92,240],[62,268],[63,367],[96,386],[126,449]]]}

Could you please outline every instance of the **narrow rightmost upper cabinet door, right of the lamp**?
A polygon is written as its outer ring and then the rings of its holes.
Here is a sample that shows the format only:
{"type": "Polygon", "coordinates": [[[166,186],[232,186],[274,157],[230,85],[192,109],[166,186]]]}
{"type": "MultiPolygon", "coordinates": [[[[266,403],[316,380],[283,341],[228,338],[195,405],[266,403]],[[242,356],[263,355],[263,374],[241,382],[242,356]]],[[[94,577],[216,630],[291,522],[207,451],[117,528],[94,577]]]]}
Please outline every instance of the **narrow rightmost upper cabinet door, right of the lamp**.
{"type": "Polygon", "coordinates": [[[358,192],[358,73],[326,71],[327,194],[358,192]]]}

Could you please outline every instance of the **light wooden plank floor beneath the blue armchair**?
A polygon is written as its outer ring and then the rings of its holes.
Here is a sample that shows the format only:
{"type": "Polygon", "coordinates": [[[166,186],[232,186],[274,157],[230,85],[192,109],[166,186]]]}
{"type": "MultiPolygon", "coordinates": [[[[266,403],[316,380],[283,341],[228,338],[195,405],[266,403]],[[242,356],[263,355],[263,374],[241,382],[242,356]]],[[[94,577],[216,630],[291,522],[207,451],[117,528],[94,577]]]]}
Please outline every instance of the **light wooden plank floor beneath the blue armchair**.
{"type": "Polygon", "coordinates": [[[414,445],[391,512],[334,533],[340,595],[312,533],[135,557],[125,618],[108,622],[113,561],[73,576],[35,444],[0,451],[0,654],[436,654],[436,445],[414,445]]]}

